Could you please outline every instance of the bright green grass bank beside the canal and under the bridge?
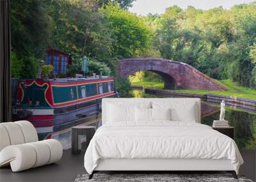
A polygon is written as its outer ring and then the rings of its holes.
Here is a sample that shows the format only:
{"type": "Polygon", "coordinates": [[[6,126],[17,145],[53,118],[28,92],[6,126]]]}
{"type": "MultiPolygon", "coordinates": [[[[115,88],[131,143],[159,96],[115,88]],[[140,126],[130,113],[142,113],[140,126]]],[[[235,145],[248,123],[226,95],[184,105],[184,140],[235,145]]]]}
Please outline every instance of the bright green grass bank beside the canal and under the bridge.
{"type": "MultiPolygon", "coordinates": [[[[186,93],[198,93],[206,94],[212,93],[216,95],[225,95],[225,96],[236,96],[240,98],[250,98],[256,100],[256,89],[238,86],[236,82],[230,80],[216,80],[221,85],[227,87],[228,91],[207,91],[207,90],[193,90],[193,89],[179,89],[175,91],[186,92],[186,93]]],[[[155,87],[163,89],[163,82],[132,82],[132,85],[142,85],[145,87],[155,87]]]]}

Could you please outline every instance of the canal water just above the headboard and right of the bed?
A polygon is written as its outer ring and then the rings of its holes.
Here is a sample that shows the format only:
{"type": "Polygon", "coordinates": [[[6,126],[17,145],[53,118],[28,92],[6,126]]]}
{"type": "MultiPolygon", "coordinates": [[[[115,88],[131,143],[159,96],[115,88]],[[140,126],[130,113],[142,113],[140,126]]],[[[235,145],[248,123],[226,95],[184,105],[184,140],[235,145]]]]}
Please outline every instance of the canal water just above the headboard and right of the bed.
{"type": "MultiPolygon", "coordinates": [[[[133,92],[136,98],[158,97],[145,94],[143,91],[133,92]]],[[[201,112],[201,123],[212,126],[213,120],[220,117],[220,106],[202,101],[201,112]]],[[[256,149],[256,113],[226,107],[225,119],[228,125],[234,126],[235,141],[239,149],[256,149]]]]}

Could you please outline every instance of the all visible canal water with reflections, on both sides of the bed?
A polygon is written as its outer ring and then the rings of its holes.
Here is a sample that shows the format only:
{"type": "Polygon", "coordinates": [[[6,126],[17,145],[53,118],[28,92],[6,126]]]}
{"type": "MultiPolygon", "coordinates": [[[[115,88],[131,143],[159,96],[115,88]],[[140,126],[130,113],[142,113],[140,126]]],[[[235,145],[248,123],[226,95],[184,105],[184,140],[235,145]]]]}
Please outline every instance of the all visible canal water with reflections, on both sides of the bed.
{"type": "MultiPolygon", "coordinates": [[[[153,98],[159,97],[156,95],[148,95],[143,91],[134,91],[136,98],[153,98]]],[[[219,105],[209,104],[206,102],[201,103],[202,118],[201,123],[205,125],[212,125],[212,121],[220,116],[219,105]]],[[[77,121],[83,123],[81,125],[101,126],[101,116],[99,118],[88,117],[77,121]],[[91,119],[92,118],[92,119],[91,119]],[[88,121],[86,121],[88,120],[88,121]]],[[[225,119],[230,126],[235,128],[235,140],[239,149],[256,149],[256,113],[246,112],[230,107],[226,107],[225,119]]],[[[71,147],[71,126],[66,130],[51,133],[52,139],[60,140],[64,149],[71,147]]],[[[85,139],[83,139],[84,141],[85,139]]]]}

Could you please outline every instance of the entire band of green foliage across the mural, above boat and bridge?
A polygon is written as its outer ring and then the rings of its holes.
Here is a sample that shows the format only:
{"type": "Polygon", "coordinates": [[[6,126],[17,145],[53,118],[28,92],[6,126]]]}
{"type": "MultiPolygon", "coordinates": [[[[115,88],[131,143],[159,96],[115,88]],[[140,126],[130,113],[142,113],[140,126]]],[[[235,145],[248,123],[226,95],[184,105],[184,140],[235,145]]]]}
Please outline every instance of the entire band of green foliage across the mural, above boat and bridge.
{"type": "Polygon", "coordinates": [[[207,11],[171,6],[139,17],[127,11],[133,1],[11,0],[12,77],[35,77],[45,50],[56,48],[72,55],[69,76],[80,72],[84,55],[92,72],[106,75],[115,75],[122,57],[164,57],[256,86],[256,3],[207,11]]]}

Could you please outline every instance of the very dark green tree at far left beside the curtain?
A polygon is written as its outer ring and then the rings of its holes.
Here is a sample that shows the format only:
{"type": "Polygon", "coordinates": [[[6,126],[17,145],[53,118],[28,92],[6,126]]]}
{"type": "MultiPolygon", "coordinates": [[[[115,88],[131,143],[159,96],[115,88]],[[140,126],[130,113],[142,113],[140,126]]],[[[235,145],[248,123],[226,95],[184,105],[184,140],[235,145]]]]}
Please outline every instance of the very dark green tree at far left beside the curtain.
{"type": "Polygon", "coordinates": [[[11,34],[13,77],[35,77],[37,62],[42,59],[51,37],[51,18],[40,0],[11,1],[11,34]],[[32,70],[29,70],[29,69],[32,70]],[[17,70],[17,69],[16,69],[17,70]],[[19,75],[18,75],[19,74],[19,75]]]}

